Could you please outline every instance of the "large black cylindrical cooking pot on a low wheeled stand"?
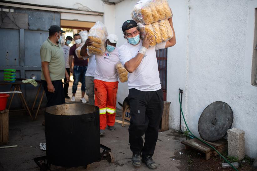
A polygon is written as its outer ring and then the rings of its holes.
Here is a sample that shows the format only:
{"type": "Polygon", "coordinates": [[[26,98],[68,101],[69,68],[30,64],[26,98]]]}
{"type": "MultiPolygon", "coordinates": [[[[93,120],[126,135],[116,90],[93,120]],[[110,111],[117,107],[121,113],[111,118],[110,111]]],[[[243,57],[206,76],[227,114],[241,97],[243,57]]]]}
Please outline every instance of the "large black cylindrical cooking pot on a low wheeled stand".
{"type": "Polygon", "coordinates": [[[99,108],[63,104],[45,110],[46,155],[63,167],[86,166],[100,158],[99,108]]]}

